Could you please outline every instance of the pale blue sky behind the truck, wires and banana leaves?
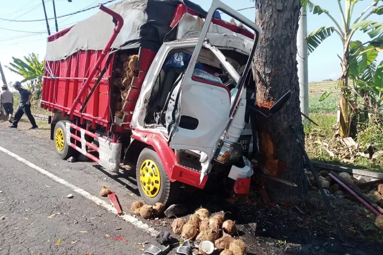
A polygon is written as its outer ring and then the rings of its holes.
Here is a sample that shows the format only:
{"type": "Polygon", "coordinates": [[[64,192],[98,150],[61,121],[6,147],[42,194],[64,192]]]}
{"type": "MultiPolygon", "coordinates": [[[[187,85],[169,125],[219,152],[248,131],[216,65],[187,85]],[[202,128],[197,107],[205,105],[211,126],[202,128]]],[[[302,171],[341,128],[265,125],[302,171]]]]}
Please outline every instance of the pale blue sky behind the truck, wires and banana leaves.
{"type": "MultiPolygon", "coordinates": [[[[57,16],[73,13],[88,7],[95,6],[99,3],[106,2],[107,0],[72,0],[68,3],[67,0],[55,0],[57,16]]],[[[199,4],[206,11],[208,10],[211,0],[192,0],[194,3],[199,4]]],[[[243,9],[253,7],[254,2],[250,0],[221,0],[233,9],[243,9]]],[[[342,0],[344,3],[345,0],[342,0]]],[[[373,0],[360,1],[354,8],[353,19],[366,9],[373,0]]],[[[41,0],[14,0],[2,1],[1,16],[0,18],[12,20],[34,20],[44,19],[44,11],[41,0]]],[[[313,0],[314,3],[319,4],[322,8],[328,10],[332,16],[341,22],[339,7],[336,0],[313,0]]],[[[45,7],[47,16],[53,17],[53,3],[52,0],[45,0],[45,7]]],[[[59,30],[68,27],[82,19],[85,19],[98,9],[94,8],[89,11],[81,12],[75,15],[58,18],[59,30]]],[[[250,20],[255,19],[255,9],[247,9],[240,11],[243,15],[250,20]]],[[[223,16],[225,19],[225,17],[223,16]]],[[[376,20],[383,22],[383,16],[372,15],[369,20],[376,20]]],[[[323,25],[333,25],[332,21],[325,15],[307,14],[307,31],[310,33],[323,25]]],[[[49,21],[50,30],[54,33],[55,22],[54,19],[49,21]]],[[[36,22],[15,22],[5,21],[0,19],[0,62],[3,65],[3,70],[7,82],[14,82],[22,80],[22,78],[9,71],[5,65],[12,61],[12,57],[22,58],[30,53],[38,54],[39,59],[43,60],[46,49],[46,23],[45,21],[36,22]],[[17,31],[10,31],[17,30],[17,31]]],[[[367,41],[368,35],[362,32],[355,33],[353,40],[367,41]]],[[[314,53],[308,57],[308,81],[323,81],[326,79],[336,80],[341,73],[340,59],[337,55],[342,55],[342,42],[339,37],[332,35],[327,38],[314,53]]],[[[378,61],[383,61],[383,54],[380,54],[378,61]]]]}

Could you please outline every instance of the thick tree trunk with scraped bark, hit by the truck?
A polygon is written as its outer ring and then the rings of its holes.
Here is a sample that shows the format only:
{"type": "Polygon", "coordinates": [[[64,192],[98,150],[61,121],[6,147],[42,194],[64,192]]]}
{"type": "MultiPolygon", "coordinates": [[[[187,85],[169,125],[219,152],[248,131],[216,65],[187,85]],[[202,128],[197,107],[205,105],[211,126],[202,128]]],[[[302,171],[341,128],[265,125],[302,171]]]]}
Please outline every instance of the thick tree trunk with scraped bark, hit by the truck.
{"type": "Polygon", "coordinates": [[[256,1],[255,20],[262,29],[254,56],[257,105],[267,111],[292,91],[288,103],[270,119],[257,116],[261,170],[298,185],[270,183],[267,191],[273,200],[304,196],[308,188],[303,154],[291,129],[293,125],[303,141],[296,60],[299,12],[300,0],[256,1]]]}

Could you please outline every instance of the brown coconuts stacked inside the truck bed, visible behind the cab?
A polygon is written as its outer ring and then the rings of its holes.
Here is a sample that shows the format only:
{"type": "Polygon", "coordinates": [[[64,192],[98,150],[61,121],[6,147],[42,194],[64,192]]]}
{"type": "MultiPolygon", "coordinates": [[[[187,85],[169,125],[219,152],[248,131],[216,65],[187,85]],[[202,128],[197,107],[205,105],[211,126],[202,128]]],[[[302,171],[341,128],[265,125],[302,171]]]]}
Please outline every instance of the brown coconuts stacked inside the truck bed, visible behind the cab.
{"type": "Polygon", "coordinates": [[[117,67],[114,69],[114,86],[120,93],[114,95],[115,112],[114,116],[122,118],[124,112],[121,111],[128,96],[129,88],[132,84],[133,77],[138,77],[138,55],[128,56],[120,54],[118,56],[117,67]]]}

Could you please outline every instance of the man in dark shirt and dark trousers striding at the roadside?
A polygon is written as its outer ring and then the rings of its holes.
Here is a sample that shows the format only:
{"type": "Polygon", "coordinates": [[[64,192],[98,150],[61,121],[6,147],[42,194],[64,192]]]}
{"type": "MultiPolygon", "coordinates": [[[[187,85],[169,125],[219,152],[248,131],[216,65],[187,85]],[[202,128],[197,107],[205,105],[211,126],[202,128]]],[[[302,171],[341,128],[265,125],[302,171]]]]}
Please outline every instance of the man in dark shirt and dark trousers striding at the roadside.
{"type": "Polygon", "coordinates": [[[20,82],[15,82],[13,84],[13,87],[19,92],[19,98],[20,98],[20,104],[16,110],[16,113],[15,113],[15,118],[12,122],[12,125],[10,125],[9,127],[11,127],[11,129],[17,129],[17,123],[19,122],[19,120],[21,119],[22,115],[25,113],[29,119],[29,121],[31,122],[32,124],[32,127],[30,128],[31,129],[38,129],[38,126],[36,124],[36,121],[35,121],[35,118],[33,117],[32,113],[31,113],[31,98],[32,98],[32,93],[29,92],[28,90],[26,89],[23,89],[21,87],[21,83],[20,82]]]}

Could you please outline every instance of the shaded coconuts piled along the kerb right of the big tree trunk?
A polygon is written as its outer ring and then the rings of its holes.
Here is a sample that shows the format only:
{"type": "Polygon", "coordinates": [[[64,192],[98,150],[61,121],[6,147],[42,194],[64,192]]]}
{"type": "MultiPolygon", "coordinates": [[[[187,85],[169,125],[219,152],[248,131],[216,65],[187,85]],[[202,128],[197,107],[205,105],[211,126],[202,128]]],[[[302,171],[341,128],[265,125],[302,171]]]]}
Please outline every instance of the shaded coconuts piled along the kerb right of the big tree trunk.
{"type": "MultiPolygon", "coordinates": [[[[311,190],[318,191],[317,183],[315,182],[314,176],[312,172],[306,172],[306,175],[308,179],[310,180],[310,183],[312,184],[311,190]]],[[[329,190],[332,194],[336,195],[347,195],[347,192],[343,190],[343,188],[337,184],[331,176],[328,175],[328,172],[326,170],[322,170],[319,172],[319,181],[321,182],[321,185],[324,189],[329,190]]],[[[341,172],[339,174],[340,177],[342,177],[343,180],[347,181],[348,183],[351,183],[356,186],[357,189],[360,189],[363,193],[366,194],[368,198],[376,205],[383,208],[383,184],[375,184],[370,185],[367,187],[359,187],[362,184],[367,183],[364,179],[356,179],[355,177],[351,176],[350,174],[346,172],[341,172]]]]}

